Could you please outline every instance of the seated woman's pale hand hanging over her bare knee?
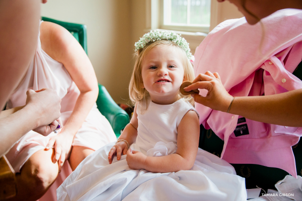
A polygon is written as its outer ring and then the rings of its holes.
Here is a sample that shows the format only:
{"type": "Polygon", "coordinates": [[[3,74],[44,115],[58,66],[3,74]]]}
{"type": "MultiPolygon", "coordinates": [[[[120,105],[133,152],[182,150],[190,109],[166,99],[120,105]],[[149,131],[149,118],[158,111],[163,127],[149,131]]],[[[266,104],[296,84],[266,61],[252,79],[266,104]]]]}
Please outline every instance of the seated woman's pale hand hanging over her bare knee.
{"type": "Polygon", "coordinates": [[[51,160],[53,163],[58,162],[59,172],[61,171],[64,161],[69,157],[73,137],[74,136],[68,131],[61,131],[56,136],[51,137],[46,145],[45,150],[54,146],[55,154],[51,160]]]}

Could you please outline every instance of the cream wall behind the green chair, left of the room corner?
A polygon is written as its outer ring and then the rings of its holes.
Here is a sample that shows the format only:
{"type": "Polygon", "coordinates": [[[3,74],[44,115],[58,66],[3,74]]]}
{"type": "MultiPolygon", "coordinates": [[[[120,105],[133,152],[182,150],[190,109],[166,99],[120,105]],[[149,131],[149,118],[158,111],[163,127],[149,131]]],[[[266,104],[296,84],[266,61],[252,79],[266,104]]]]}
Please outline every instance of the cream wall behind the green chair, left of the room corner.
{"type": "Polygon", "coordinates": [[[129,0],[50,0],[41,15],[86,24],[88,55],[98,82],[116,102],[128,99],[132,49],[129,0]]]}

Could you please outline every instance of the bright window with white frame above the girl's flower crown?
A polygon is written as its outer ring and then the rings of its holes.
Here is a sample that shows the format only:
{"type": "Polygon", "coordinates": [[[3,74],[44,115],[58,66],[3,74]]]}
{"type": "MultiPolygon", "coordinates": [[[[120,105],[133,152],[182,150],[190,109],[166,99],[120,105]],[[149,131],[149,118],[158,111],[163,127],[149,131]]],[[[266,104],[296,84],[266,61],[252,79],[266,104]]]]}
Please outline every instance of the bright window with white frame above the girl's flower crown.
{"type": "Polygon", "coordinates": [[[162,0],[161,29],[209,32],[211,0],[162,0]]]}

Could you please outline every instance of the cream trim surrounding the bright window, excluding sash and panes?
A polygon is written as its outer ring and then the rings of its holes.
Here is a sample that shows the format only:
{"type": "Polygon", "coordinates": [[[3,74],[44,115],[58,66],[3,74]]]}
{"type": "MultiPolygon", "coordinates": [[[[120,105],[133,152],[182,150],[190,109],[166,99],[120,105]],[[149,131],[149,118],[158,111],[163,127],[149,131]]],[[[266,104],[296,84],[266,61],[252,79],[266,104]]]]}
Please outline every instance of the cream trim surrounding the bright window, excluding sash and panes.
{"type": "MultiPolygon", "coordinates": [[[[160,12],[161,10],[161,1],[162,0],[145,0],[146,1],[146,29],[145,33],[148,33],[150,30],[156,30],[160,28],[161,20],[160,12]]],[[[218,25],[218,11],[220,7],[217,0],[211,0],[211,21],[210,28],[211,31],[214,27],[218,25]]],[[[164,27],[163,27],[164,28],[164,27]]],[[[169,29],[171,30],[171,29],[169,29]]],[[[199,46],[202,40],[207,36],[207,33],[200,32],[185,32],[185,31],[175,31],[177,34],[181,34],[187,42],[190,44],[190,49],[192,54],[195,53],[195,49],[199,46]]]]}

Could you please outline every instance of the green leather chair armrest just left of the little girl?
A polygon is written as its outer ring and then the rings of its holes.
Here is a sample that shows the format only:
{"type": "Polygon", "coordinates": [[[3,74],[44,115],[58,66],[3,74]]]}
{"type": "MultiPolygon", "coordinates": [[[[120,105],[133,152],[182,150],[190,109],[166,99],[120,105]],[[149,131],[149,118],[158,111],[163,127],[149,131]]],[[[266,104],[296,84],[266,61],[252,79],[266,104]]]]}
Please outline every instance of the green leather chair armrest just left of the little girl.
{"type": "Polygon", "coordinates": [[[101,84],[99,84],[97,106],[99,111],[108,119],[116,137],[119,137],[121,130],[129,123],[129,115],[114,102],[106,88],[101,84]]]}

